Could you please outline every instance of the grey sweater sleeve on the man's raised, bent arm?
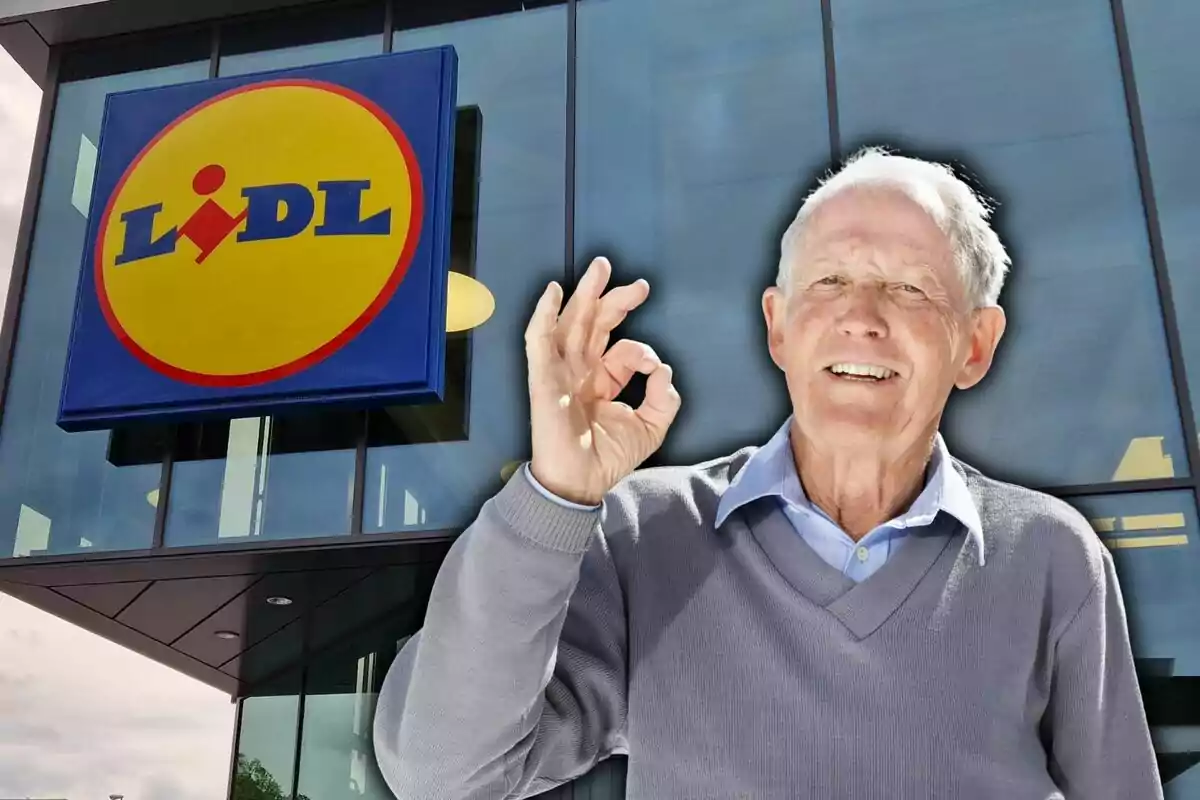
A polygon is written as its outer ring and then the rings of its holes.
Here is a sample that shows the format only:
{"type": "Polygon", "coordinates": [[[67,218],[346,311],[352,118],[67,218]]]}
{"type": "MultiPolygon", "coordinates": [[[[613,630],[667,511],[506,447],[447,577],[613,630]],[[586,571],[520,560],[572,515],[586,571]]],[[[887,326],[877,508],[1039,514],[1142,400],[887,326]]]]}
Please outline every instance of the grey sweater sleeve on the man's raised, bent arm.
{"type": "Polygon", "coordinates": [[[625,613],[600,521],[518,470],[450,548],[376,709],[398,798],[526,798],[620,746],[625,613]]]}

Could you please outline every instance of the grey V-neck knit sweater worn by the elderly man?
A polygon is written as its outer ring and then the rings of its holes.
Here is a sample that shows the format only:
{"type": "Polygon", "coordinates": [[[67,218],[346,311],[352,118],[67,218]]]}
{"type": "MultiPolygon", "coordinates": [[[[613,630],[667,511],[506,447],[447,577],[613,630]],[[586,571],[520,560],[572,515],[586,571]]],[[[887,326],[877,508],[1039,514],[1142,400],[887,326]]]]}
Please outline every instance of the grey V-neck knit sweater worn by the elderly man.
{"type": "Polygon", "coordinates": [[[955,462],[983,535],[942,515],[854,584],[770,501],[714,530],[751,452],[635,473],[600,511],[518,470],[385,679],[396,795],[524,798],[626,753],[630,800],[1163,796],[1078,512],[955,462]]]}

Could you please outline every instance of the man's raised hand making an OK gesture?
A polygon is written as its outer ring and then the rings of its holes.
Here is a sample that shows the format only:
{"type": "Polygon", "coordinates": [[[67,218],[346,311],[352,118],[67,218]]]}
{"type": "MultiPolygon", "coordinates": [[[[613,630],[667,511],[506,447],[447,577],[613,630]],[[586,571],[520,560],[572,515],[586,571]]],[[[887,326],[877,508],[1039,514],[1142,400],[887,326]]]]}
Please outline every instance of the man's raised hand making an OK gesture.
{"type": "Polygon", "coordinates": [[[562,314],[563,288],[551,282],[526,329],[530,470],[558,497],[587,505],[659,449],[679,410],[671,367],[649,345],[608,347],[612,330],[650,291],[640,279],[604,294],[611,275],[606,259],[594,260],[562,314]],[[638,372],[649,375],[642,404],[613,402],[638,372]]]}

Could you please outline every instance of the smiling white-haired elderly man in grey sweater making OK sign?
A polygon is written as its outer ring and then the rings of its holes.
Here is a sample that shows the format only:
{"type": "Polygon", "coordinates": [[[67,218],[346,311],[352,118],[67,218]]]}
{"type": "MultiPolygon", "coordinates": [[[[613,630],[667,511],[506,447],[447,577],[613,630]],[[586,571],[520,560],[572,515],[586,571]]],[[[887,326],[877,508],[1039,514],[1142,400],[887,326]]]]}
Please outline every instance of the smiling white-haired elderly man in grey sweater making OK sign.
{"type": "Polygon", "coordinates": [[[695,467],[635,471],[680,403],[650,348],[608,347],[647,283],[605,293],[598,260],[562,313],[551,284],[533,458],[379,698],[396,794],[524,798],[628,753],[632,800],[1162,798],[1108,551],[938,434],[1004,331],[988,218],[940,164],[829,178],[762,302],[793,414],[695,467]]]}

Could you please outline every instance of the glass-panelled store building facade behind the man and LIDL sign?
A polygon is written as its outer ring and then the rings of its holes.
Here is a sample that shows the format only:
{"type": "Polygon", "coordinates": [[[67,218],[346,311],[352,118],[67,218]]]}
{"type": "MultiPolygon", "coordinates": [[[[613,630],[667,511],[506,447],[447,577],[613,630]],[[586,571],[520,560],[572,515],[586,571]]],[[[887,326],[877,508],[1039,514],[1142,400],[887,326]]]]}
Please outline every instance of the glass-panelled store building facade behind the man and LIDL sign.
{"type": "MultiPolygon", "coordinates": [[[[448,542],[528,455],[521,336],[546,281],[605,254],[654,287],[629,332],[685,397],[661,461],[769,437],[787,401],[758,296],[804,191],[865,144],[952,160],[998,200],[1009,335],[944,433],[1114,549],[1168,796],[1200,798],[1200,10],[31,5],[0,14],[46,90],[0,339],[0,589],[239,698],[232,798],[389,796],[373,693],[448,542]],[[450,299],[444,399],[61,429],[106,97],[443,46],[450,270],[476,297],[450,299]]],[[[620,772],[560,792],[622,796],[620,772]]]]}

